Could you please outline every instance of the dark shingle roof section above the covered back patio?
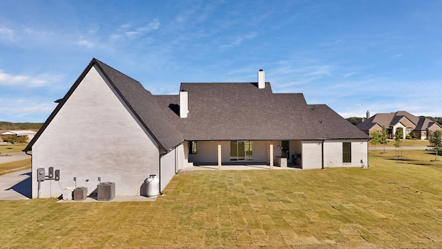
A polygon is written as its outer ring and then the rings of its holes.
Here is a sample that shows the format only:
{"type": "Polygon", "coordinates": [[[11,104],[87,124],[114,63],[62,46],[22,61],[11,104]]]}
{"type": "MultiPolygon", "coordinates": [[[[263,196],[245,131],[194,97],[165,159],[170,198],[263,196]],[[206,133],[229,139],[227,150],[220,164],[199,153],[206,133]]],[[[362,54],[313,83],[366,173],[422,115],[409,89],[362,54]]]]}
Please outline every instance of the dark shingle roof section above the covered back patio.
{"type": "Polygon", "coordinates": [[[179,96],[155,96],[185,140],[319,140],[364,138],[324,104],[308,105],[302,93],[272,93],[256,83],[182,83],[189,116],[180,118],[179,96]]]}

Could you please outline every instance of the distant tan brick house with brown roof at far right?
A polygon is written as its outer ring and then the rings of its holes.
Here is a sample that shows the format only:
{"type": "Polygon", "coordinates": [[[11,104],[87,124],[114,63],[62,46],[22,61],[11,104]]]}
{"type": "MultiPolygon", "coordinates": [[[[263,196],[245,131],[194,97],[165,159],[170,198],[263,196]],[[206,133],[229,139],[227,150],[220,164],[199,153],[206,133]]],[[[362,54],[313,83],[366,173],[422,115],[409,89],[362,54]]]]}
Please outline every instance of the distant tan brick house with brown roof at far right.
{"type": "Polygon", "coordinates": [[[421,140],[427,139],[428,131],[442,131],[442,125],[434,122],[429,118],[416,117],[407,111],[396,111],[392,113],[377,113],[370,117],[367,111],[367,119],[356,125],[365,134],[370,134],[374,131],[381,131],[385,127],[388,131],[389,138],[394,137],[396,129],[402,128],[403,138],[407,134],[414,135],[415,138],[421,140]]]}

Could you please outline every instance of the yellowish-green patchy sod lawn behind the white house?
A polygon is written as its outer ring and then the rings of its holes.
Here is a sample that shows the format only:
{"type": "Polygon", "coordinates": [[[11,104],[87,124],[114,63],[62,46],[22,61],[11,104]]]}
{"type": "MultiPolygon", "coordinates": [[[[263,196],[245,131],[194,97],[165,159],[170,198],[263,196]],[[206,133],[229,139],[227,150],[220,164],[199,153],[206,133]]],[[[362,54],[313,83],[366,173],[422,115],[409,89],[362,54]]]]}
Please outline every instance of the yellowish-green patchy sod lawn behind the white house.
{"type": "Polygon", "coordinates": [[[0,201],[0,248],[442,248],[442,162],[391,152],[368,169],[183,172],[155,202],[0,201]]]}

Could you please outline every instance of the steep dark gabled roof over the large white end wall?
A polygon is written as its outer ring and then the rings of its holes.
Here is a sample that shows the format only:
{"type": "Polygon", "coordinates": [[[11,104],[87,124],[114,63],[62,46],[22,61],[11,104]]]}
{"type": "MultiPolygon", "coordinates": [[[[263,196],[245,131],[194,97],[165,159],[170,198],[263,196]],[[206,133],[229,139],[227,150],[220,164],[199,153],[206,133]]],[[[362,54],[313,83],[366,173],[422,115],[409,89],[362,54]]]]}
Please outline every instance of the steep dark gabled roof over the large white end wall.
{"type": "Polygon", "coordinates": [[[180,136],[180,133],[170,124],[157,102],[155,102],[153,95],[149,91],[146,91],[140,82],[133,80],[131,77],[128,77],[93,58],[77,81],[69,89],[68,93],[66,93],[64,98],[58,100],[59,104],[55,110],[52,111],[49,118],[37,132],[36,136],[29,142],[28,146],[23,149],[23,151],[32,150],[32,145],[38,140],[41,133],[43,133],[46,127],[48,127],[52,119],[64,106],[70,95],[72,95],[75,89],[77,89],[77,86],[93,66],[99,68],[99,71],[113,86],[119,97],[122,98],[128,108],[133,111],[140,123],[143,124],[144,128],[151,133],[151,136],[153,136],[163,149],[171,149],[182,142],[183,139],[180,136]]]}

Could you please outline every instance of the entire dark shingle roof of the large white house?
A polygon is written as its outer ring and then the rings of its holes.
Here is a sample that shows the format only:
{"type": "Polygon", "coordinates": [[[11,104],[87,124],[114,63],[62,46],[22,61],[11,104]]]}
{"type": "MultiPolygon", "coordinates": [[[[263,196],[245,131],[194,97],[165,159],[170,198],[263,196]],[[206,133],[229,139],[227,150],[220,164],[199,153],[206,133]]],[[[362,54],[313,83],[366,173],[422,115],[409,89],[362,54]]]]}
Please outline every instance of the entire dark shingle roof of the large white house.
{"type": "Polygon", "coordinates": [[[97,66],[163,149],[182,140],[319,140],[369,136],[325,104],[309,105],[302,93],[272,93],[257,83],[182,83],[189,93],[189,116],[179,116],[178,95],[152,95],[140,82],[92,59],[30,141],[32,145],[86,76],[97,66]]]}

